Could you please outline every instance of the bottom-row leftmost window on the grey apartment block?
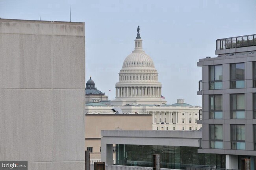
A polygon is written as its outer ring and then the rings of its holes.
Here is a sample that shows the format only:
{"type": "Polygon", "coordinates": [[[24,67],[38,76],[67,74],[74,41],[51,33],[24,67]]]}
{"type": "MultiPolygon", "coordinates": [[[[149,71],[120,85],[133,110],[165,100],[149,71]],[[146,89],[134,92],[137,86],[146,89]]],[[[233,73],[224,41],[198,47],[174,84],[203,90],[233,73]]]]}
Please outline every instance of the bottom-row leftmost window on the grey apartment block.
{"type": "Polygon", "coordinates": [[[210,148],[223,149],[223,128],[219,124],[210,124],[210,148]]]}

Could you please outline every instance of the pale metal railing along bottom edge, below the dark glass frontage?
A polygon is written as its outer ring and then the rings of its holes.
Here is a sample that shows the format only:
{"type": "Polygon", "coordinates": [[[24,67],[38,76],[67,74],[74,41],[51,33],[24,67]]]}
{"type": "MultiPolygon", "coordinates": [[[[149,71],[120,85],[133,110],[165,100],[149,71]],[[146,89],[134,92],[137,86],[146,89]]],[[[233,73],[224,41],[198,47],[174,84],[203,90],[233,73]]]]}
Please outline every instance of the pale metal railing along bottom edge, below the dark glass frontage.
{"type": "MultiPolygon", "coordinates": [[[[94,164],[90,164],[90,170],[94,169],[94,164]]],[[[141,166],[123,166],[123,165],[111,165],[106,164],[106,170],[152,170],[152,167],[141,167],[141,166]]],[[[176,170],[161,168],[161,170],[176,170]]]]}

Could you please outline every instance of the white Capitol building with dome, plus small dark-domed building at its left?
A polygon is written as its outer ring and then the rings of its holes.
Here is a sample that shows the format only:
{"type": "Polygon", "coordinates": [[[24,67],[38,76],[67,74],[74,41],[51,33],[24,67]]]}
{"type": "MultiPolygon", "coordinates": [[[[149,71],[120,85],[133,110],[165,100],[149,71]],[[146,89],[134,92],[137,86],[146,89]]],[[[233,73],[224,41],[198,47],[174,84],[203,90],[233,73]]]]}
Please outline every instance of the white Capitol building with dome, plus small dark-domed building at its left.
{"type": "Polygon", "coordinates": [[[143,51],[142,41],[138,27],[135,49],[124,59],[119,82],[115,84],[115,100],[109,101],[104,93],[96,90],[91,78],[87,81],[86,114],[152,115],[152,130],[199,130],[202,125],[197,120],[202,108],[183,99],[167,104],[161,95],[162,84],[154,61],[143,51]]]}

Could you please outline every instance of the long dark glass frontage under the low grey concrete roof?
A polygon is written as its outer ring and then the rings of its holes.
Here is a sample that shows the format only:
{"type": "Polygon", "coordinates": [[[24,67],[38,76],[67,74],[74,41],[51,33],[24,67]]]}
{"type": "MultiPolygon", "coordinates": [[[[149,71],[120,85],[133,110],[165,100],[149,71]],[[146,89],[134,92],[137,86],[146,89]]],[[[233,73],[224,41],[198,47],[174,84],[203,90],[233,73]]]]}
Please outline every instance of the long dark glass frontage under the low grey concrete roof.
{"type": "Polygon", "coordinates": [[[161,168],[186,169],[188,165],[225,168],[226,156],[197,153],[198,147],[116,144],[116,164],[152,167],[152,154],[161,155],[161,168]]]}

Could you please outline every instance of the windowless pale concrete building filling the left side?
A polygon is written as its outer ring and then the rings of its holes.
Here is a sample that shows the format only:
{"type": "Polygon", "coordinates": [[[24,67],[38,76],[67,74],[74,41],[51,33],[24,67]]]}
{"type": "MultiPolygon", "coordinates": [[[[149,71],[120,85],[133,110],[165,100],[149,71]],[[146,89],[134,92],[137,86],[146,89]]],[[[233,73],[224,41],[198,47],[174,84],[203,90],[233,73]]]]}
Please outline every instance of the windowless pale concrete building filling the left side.
{"type": "Polygon", "coordinates": [[[0,160],[84,170],[84,23],[0,19],[0,73],[0,160]]]}

